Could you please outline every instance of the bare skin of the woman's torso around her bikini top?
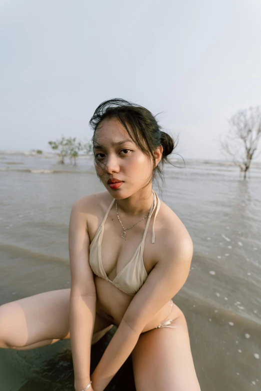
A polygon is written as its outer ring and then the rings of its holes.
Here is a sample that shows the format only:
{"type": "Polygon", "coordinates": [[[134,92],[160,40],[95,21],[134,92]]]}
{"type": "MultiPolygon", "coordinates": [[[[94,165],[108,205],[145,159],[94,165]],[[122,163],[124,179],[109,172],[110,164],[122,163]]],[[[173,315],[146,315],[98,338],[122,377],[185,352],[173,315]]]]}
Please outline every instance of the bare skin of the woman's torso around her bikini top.
{"type": "MultiPolygon", "coordinates": [[[[85,196],[86,199],[86,226],[90,243],[92,242],[95,233],[101,224],[104,215],[108,209],[112,198],[108,192],[90,194],[85,196]]],[[[154,233],[155,243],[151,244],[151,225],[152,218],[149,223],[148,232],[145,238],[143,264],[146,273],[152,270],[153,266],[159,259],[162,243],[164,243],[164,235],[167,227],[172,227],[173,238],[180,230],[184,235],[188,235],[184,225],[175,215],[175,213],[162,201],[160,201],[160,209],[156,216],[154,233]],[[174,227],[174,229],[173,229],[174,227]]],[[[134,224],[130,222],[129,226],[134,224]]],[[[122,240],[120,233],[122,227],[117,219],[115,207],[111,208],[107,219],[104,223],[104,233],[101,243],[101,259],[104,271],[110,280],[113,280],[116,274],[129,262],[137,246],[141,242],[146,219],[138,223],[136,226],[126,231],[126,238],[122,240]]],[[[104,279],[93,274],[96,287],[96,312],[109,324],[118,326],[129,303],[133,299],[130,296],[104,279]]],[[[160,311],[147,323],[143,332],[155,328],[160,322],[165,320],[169,313],[170,305],[167,303],[160,311]]],[[[171,311],[171,319],[176,319],[182,314],[181,310],[174,304],[171,311]]]]}

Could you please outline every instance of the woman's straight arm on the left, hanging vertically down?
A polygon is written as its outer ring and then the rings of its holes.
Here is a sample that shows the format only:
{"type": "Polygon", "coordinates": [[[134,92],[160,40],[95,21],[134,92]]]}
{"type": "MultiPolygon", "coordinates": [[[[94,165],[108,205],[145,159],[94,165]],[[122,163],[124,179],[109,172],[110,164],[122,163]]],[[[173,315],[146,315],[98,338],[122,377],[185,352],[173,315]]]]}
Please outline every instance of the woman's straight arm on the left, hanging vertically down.
{"type": "Polygon", "coordinates": [[[84,203],[84,198],[76,201],[69,222],[69,328],[76,391],[84,389],[90,381],[90,347],[96,307],[95,284],[88,261],[89,237],[84,203]]]}

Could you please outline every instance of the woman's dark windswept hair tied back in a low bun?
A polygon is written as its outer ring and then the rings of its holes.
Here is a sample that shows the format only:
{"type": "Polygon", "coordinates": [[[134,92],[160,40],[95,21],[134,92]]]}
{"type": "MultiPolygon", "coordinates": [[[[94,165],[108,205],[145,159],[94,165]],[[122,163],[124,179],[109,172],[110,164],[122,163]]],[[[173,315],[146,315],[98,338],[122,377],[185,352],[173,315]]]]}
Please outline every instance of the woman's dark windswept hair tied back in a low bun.
{"type": "MultiPolygon", "coordinates": [[[[93,129],[93,135],[91,138],[92,149],[94,144],[95,131],[99,123],[105,118],[116,118],[124,126],[128,135],[137,145],[137,147],[152,159],[153,171],[150,181],[153,181],[154,179],[157,181],[156,174],[158,174],[161,182],[164,184],[162,170],[163,164],[166,162],[172,164],[168,160],[167,156],[172,153],[176,145],[174,145],[173,138],[161,130],[162,128],[158,124],[155,116],[145,107],[121,98],[105,100],[98,105],[89,121],[89,125],[93,129]],[[127,124],[130,126],[133,135],[130,133],[127,124]],[[163,152],[161,161],[155,167],[153,151],[159,145],[162,145],[163,152]]],[[[95,162],[99,164],[97,160],[95,160],[95,162]]],[[[160,188],[160,186],[158,187],[160,188]]]]}

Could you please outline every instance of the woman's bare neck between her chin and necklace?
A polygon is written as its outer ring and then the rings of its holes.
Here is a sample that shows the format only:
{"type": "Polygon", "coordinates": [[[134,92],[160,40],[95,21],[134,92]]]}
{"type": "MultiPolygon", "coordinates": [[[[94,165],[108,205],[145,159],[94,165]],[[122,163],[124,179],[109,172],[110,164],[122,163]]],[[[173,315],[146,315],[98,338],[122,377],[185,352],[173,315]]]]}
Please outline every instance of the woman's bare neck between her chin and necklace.
{"type": "Polygon", "coordinates": [[[142,189],[142,193],[132,194],[123,200],[117,200],[118,212],[128,216],[140,216],[147,213],[153,201],[152,186],[142,189]]]}

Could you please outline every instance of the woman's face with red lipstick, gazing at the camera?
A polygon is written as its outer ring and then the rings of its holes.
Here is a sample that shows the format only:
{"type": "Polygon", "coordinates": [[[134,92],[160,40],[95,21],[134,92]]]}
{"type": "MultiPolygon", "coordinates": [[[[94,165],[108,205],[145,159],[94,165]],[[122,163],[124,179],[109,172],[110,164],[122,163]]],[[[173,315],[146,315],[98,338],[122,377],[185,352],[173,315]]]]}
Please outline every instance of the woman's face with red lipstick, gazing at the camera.
{"type": "Polygon", "coordinates": [[[96,173],[113,198],[127,198],[149,182],[152,159],[138,149],[115,118],[105,119],[98,125],[94,155],[98,161],[96,173]],[[119,183],[109,185],[107,181],[111,179],[119,183]]]}

